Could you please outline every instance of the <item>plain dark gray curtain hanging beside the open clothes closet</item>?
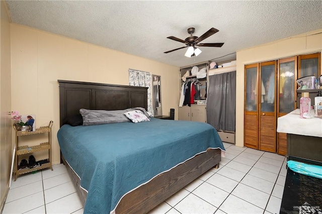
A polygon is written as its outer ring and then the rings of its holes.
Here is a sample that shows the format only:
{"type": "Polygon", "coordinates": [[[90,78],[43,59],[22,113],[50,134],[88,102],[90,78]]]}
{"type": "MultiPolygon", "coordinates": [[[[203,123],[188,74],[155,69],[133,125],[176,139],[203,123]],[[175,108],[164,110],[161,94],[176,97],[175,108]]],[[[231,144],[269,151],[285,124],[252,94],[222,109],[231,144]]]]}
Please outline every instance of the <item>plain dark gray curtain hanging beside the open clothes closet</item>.
{"type": "Polygon", "coordinates": [[[207,123],[216,130],[235,131],[236,71],[209,76],[207,123]]]}

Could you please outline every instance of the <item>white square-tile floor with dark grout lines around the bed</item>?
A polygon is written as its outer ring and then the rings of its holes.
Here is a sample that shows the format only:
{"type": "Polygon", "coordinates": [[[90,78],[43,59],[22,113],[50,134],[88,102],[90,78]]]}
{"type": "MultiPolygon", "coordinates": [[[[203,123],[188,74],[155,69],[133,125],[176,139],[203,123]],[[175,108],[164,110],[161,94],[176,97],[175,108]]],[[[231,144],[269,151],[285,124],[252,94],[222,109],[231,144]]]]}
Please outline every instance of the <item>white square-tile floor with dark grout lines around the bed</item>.
{"type": "MultiPolygon", "coordinates": [[[[286,159],[224,143],[219,169],[210,169],[150,213],[279,213],[286,159]]],[[[83,213],[64,165],[12,182],[3,213],[83,213]]]]}

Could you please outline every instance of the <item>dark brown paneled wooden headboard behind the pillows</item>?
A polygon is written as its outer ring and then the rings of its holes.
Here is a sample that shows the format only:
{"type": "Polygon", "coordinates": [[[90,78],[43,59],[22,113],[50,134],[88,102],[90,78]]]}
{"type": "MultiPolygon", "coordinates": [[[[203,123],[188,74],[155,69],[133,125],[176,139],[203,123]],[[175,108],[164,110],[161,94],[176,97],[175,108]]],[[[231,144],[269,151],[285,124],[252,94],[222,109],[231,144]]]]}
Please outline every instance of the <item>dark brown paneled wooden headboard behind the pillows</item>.
{"type": "Polygon", "coordinates": [[[147,87],[94,82],[59,80],[60,127],[79,109],[124,110],[142,107],[147,110],[147,87]]]}

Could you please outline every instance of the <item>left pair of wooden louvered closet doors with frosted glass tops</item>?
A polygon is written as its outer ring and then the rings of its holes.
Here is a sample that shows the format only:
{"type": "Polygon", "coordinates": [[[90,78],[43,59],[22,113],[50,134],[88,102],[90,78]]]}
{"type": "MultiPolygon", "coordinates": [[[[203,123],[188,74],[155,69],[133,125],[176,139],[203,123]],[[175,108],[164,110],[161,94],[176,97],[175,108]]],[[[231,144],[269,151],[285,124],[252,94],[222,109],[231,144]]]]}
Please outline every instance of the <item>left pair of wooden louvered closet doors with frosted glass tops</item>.
{"type": "Polygon", "coordinates": [[[245,146],[276,151],[276,61],[245,67],[245,146]]]}

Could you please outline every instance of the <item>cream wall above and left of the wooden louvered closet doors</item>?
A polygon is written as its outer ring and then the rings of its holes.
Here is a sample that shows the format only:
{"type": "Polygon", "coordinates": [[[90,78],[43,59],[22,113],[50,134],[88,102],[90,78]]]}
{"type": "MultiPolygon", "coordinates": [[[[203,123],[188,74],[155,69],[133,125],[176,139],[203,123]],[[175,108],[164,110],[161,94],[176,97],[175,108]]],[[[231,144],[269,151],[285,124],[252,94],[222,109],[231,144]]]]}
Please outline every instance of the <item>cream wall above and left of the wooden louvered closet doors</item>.
{"type": "Polygon", "coordinates": [[[236,52],[236,146],[244,146],[245,65],[321,50],[322,29],[236,52]]]}

